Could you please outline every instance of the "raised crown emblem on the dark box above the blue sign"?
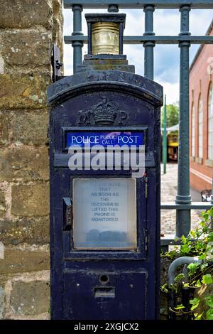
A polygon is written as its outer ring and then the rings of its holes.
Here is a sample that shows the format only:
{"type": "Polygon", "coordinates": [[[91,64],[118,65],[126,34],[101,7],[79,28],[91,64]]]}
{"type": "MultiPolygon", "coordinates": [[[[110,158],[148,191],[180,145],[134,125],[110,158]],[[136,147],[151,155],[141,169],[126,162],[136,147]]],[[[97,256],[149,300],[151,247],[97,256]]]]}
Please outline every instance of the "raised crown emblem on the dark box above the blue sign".
{"type": "Polygon", "coordinates": [[[92,116],[95,124],[114,124],[118,108],[118,104],[103,97],[92,108],[92,116]]]}

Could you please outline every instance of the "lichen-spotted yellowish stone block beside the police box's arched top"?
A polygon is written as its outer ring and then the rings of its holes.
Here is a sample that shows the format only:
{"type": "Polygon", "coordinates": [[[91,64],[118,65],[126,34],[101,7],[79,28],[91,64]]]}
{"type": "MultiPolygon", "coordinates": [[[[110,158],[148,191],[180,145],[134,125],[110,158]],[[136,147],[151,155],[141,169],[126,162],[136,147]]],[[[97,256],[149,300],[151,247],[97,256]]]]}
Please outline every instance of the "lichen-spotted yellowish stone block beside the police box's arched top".
{"type": "Polygon", "coordinates": [[[40,109],[46,107],[46,87],[50,75],[0,75],[0,109],[40,109]]]}

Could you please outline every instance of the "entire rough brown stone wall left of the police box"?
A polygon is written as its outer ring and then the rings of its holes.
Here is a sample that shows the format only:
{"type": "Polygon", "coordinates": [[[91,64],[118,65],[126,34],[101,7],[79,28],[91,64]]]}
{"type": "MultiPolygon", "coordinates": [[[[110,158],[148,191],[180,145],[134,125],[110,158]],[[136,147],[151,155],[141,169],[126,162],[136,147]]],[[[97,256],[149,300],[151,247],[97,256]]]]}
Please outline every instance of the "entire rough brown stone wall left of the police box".
{"type": "Polygon", "coordinates": [[[49,318],[46,87],[61,2],[0,0],[0,318],[49,318]]]}

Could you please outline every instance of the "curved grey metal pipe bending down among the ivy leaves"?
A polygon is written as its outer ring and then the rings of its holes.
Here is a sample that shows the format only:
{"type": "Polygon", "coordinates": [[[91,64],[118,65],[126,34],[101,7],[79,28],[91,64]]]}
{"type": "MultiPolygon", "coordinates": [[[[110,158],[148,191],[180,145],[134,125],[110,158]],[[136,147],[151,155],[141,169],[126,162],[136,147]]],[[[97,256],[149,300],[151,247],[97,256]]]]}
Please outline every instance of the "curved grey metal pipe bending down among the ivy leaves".
{"type": "MultiPolygon", "coordinates": [[[[183,264],[190,264],[190,263],[202,263],[198,257],[178,257],[178,259],[175,259],[170,264],[170,267],[168,269],[168,285],[170,286],[171,284],[175,283],[175,276],[176,272],[179,266],[183,264]]],[[[185,281],[187,281],[187,268],[185,267],[182,271],[182,274],[185,275],[185,281]]],[[[170,308],[175,307],[175,291],[170,291],[170,308]]],[[[169,315],[170,320],[175,320],[175,313],[173,311],[170,311],[169,315]]]]}

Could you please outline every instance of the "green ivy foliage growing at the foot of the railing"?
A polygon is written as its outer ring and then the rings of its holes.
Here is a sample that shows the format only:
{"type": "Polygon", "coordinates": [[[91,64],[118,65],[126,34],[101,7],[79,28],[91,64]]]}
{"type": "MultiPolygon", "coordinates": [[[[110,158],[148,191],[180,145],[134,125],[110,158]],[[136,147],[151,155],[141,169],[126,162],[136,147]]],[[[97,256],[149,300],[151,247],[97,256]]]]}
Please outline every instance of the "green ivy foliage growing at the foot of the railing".
{"type": "MultiPolygon", "coordinates": [[[[175,248],[172,252],[162,254],[162,257],[168,257],[171,260],[177,257],[197,257],[202,260],[201,263],[190,263],[187,266],[189,270],[189,281],[184,281],[184,275],[178,274],[175,277],[175,283],[171,286],[165,284],[161,289],[168,293],[173,290],[176,293],[181,289],[188,288],[192,291],[196,289],[206,288],[209,284],[213,284],[213,207],[202,212],[202,221],[196,230],[190,231],[187,237],[182,236],[182,244],[180,248],[175,248]]],[[[178,304],[173,311],[179,315],[187,315],[195,320],[213,320],[213,296],[195,295],[190,299],[190,305],[178,304]],[[200,312],[202,309],[202,312],[200,312]],[[189,310],[189,311],[186,311],[189,310]]]]}

